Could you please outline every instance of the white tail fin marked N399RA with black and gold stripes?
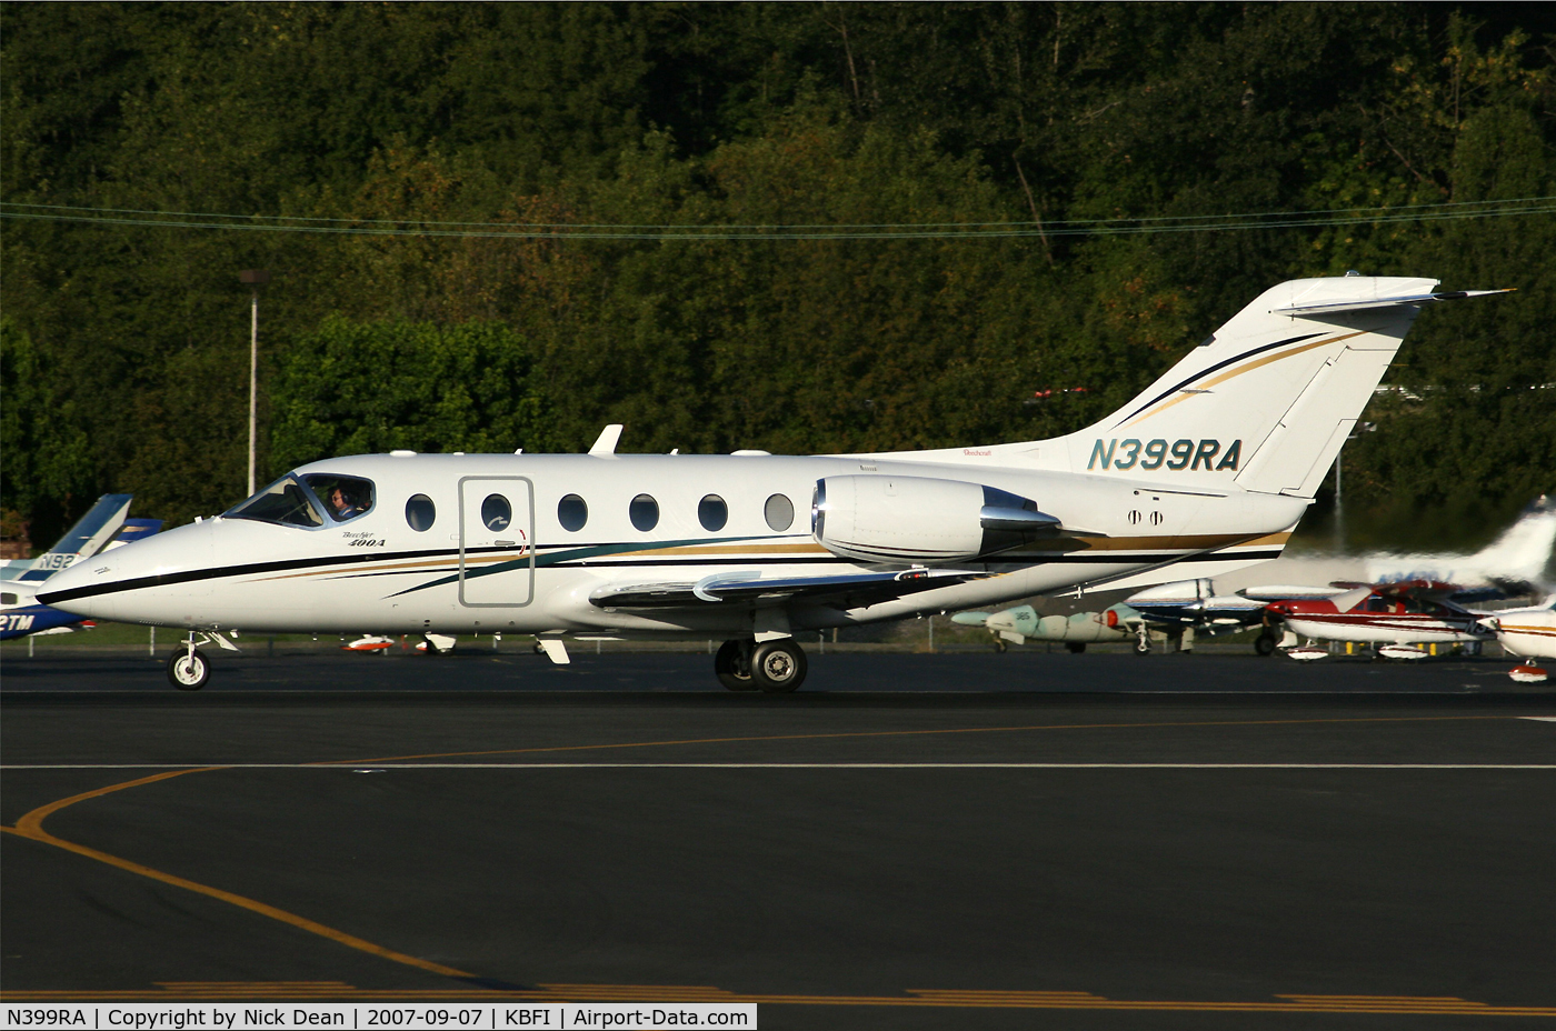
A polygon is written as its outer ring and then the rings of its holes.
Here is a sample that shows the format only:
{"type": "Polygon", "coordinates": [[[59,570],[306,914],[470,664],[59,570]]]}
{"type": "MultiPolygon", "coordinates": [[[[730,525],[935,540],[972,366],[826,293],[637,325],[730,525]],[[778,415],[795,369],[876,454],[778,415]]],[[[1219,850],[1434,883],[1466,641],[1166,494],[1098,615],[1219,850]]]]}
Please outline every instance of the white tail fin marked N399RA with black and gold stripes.
{"type": "MultiPolygon", "coordinates": [[[[1346,275],[1273,286],[1061,448],[1071,471],[1312,498],[1436,280],[1346,275]]],[[[1011,445],[1011,449],[1030,445],[1011,445]]]]}

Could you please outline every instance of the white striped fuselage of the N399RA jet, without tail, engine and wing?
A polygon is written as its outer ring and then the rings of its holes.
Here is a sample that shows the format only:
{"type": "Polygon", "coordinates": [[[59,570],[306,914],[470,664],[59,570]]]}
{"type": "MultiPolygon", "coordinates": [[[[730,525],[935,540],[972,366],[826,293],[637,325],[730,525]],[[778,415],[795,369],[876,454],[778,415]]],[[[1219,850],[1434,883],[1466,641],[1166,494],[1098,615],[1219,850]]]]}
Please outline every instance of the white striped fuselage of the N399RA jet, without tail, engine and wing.
{"type": "MultiPolygon", "coordinates": [[[[310,516],[314,526],[233,515],[240,505],[79,563],[50,585],[51,603],[199,630],[728,638],[759,631],[762,610],[773,606],[792,630],[815,630],[997,603],[1176,561],[1214,575],[1277,555],[1309,504],[1240,490],[1229,476],[1225,490],[1184,490],[977,460],[871,456],[394,454],[330,459],[294,476],[364,482],[366,512],[336,519],[319,509],[310,516]],[[974,560],[930,560],[976,577],[876,603],[803,596],[708,597],[668,608],[599,602],[616,585],[918,564],[825,547],[812,512],[825,477],[941,481],[948,498],[960,498],[957,487],[980,485],[1032,499],[1077,529],[974,560]]],[[[915,519],[971,518],[976,526],[976,510],[935,507],[921,505],[915,519]]]]}

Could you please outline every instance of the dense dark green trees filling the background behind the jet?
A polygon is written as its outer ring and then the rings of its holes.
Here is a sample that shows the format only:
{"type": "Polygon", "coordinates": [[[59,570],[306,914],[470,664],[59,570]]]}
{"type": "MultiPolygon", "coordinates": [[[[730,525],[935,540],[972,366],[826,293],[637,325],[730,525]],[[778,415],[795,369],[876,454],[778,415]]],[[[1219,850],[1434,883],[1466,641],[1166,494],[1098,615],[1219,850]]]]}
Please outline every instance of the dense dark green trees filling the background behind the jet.
{"type": "Polygon", "coordinates": [[[1424,316],[1344,456],[1374,527],[1484,522],[1556,485],[1556,216],[1061,224],[1548,197],[1553,30],[1544,5],[8,3],[8,205],[247,221],[6,208],[0,505],[44,540],[110,488],[174,522],[233,502],[240,269],[274,275],[261,479],[607,421],[629,451],[1035,439],[1265,286],[1360,269],[1520,289],[1424,316]],[[324,232],[367,219],[453,235],[324,232]],[[660,233],[926,224],[1029,235],[660,233]]]}

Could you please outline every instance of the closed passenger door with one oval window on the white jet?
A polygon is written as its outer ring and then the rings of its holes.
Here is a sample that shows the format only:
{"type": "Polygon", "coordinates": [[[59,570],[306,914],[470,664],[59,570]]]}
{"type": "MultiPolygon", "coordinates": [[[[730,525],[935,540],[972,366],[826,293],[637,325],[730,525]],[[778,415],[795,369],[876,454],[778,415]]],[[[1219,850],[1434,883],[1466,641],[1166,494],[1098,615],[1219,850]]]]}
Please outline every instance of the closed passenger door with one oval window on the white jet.
{"type": "Polygon", "coordinates": [[[529,605],[535,597],[535,487],[526,476],[459,481],[459,603],[529,605]]]}

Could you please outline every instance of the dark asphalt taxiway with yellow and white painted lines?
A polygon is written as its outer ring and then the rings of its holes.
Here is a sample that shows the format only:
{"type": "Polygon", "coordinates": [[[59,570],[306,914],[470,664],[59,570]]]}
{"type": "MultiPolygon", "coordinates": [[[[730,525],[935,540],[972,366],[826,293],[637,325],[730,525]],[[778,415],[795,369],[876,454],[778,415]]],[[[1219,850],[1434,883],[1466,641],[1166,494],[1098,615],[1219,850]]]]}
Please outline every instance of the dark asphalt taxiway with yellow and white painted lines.
{"type": "Polygon", "coordinates": [[[1556,1023],[1556,695],[1506,662],[706,667],[6,659],[0,994],[1556,1023]]]}

